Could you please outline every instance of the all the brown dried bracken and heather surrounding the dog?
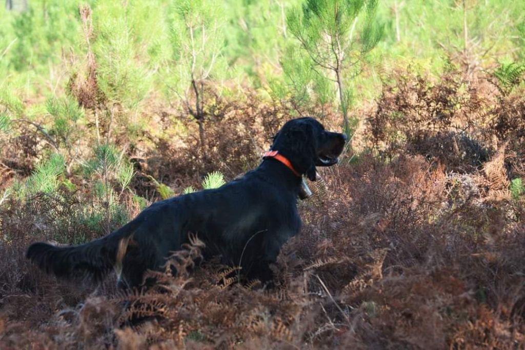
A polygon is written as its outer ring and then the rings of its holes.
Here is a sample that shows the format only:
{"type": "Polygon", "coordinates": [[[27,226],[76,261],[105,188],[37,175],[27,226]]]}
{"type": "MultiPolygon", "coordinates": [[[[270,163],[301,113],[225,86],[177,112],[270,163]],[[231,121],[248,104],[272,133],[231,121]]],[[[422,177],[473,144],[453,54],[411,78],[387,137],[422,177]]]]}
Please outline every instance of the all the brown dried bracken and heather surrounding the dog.
{"type": "MultiPolygon", "coordinates": [[[[366,127],[374,152],[322,169],[300,203],[304,227],[281,251],[272,290],[236,283],[216,261],[195,266],[198,240],[167,262],[180,273],[166,269],[145,294],[112,279],[95,290],[56,281],[24,249],[100,234],[74,220],[82,193],[11,202],[0,212],[0,347],[523,348],[525,207],[509,181],[523,176],[525,102],[454,73],[432,84],[400,76],[366,127]],[[134,317],[145,321],[130,326],[134,317]]],[[[256,101],[209,106],[207,161],[197,124],[164,116],[190,136],[130,148],[135,189],[146,195],[150,175],[179,193],[208,171],[232,179],[255,166],[287,118],[256,101]]]]}

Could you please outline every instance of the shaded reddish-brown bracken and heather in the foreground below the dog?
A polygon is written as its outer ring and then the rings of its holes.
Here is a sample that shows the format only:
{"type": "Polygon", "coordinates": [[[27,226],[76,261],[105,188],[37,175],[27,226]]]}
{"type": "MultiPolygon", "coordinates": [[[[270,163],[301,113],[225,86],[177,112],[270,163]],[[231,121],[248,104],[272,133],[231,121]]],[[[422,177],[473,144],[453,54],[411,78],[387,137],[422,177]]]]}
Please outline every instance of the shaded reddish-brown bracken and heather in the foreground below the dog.
{"type": "MultiPolygon", "coordinates": [[[[329,192],[302,204],[305,227],[281,251],[272,290],[257,281],[236,283],[235,269],[217,261],[194,265],[198,240],[172,256],[166,271],[155,273],[159,284],[145,293],[112,290],[114,281],[91,292],[56,282],[27,265],[23,244],[6,246],[1,342],[258,349],[523,344],[521,202],[513,207],[472,194],[465,178],[432,169],[421,157],[390,164],[363,157],[322,176],[329,192]],[[127,326],[138,316],[149,321],[127,326]]],[[[6,229],[16,230],[4,223],[6,229]]]]}

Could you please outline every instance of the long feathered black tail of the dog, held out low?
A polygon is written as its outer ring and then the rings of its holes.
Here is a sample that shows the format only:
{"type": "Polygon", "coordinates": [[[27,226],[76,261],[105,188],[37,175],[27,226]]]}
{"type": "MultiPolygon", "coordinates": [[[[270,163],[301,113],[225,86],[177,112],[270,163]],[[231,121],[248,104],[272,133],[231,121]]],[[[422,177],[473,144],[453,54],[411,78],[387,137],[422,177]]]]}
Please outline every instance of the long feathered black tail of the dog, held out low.
{"type": "Polygon", "coordinates": [[[132,220],[98,240],[76,246],[55,246],[37,242],[29,246],[26,258],[40,269],[64,279],[101,281],[112,269],[120,275],[122,260],[140,224],[132,220]]]}

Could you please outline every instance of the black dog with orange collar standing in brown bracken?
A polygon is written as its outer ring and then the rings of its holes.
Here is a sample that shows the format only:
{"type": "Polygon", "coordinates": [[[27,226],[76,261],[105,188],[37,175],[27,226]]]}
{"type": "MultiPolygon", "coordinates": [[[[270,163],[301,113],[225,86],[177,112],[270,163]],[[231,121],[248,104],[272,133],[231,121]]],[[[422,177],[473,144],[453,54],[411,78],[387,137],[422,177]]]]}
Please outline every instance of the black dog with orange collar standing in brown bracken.
{"type": "Polygon", "coordinates": [[[34,243],[27,258],[59,277],[99,281],[112,269],[120,285],[144,283],[146,270],[159,270],[170,252],[204,241],[205,258],[222,255],[249,278],[269,281],[269,264],[301,225],[297,197],[302,175],[316,180],[316,166],[338,162],[346,137],[325,131],[312,118],[288,121],[277,133],[260,166],[213,189],[156,202],[117,231],[78,246],[34,243]]]}

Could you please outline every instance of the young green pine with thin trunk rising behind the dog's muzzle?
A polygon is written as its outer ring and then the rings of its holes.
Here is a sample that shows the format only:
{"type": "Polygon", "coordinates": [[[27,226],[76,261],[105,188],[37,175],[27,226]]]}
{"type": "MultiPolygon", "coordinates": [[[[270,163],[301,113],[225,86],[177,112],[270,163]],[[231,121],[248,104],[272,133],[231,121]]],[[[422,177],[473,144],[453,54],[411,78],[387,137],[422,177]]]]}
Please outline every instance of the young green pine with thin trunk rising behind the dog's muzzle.
{"type": "Polygon", "coordinates": [[[350,90],[344,81],[360,73],[365,55],[382,37],[383,27],[375,21],[376,8],[377,0],[307,0],[287,16],[289,32],[312,60],[313,70],[337,83],[347,134],[351,132],[350,90]],[[358,22],[362,22],[359,27],[358,22]]]}

